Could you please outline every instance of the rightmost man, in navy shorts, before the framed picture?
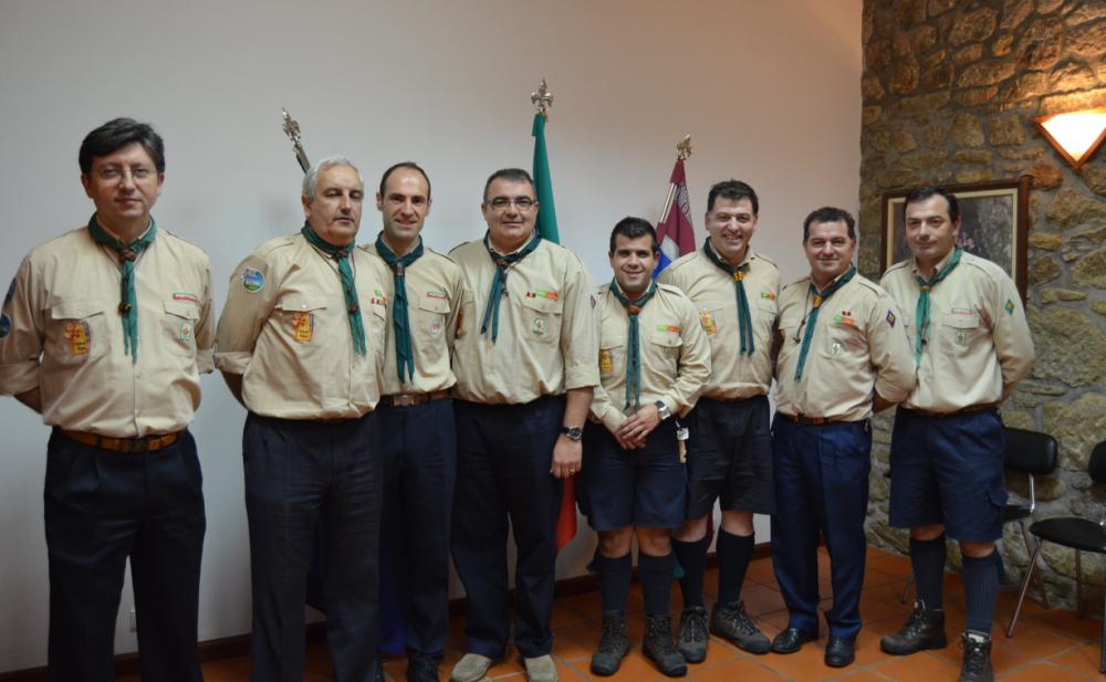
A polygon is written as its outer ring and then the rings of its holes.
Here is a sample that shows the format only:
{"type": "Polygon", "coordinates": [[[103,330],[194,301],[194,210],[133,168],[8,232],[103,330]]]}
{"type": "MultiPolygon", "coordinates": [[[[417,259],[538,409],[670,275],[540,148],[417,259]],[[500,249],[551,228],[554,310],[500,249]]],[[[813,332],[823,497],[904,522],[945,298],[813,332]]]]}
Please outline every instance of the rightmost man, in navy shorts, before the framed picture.
{"type": "Polygon", "coordinates": [[[881,284],[902,309],[918,366],[918,387],[895,416],[890,500],[890,524],[910,528],[918,599],[902,629],[879,644],[896,655],[947,646],[947,531],[960,542],[968,602],[960,679],[989,681],[993,552],[1006,503],[998,406],[1029,371],[1033,342],[1010,276],[957,245],[956,197],[926,187],[905,207],[914,258],[889,267],[881,284]]]}

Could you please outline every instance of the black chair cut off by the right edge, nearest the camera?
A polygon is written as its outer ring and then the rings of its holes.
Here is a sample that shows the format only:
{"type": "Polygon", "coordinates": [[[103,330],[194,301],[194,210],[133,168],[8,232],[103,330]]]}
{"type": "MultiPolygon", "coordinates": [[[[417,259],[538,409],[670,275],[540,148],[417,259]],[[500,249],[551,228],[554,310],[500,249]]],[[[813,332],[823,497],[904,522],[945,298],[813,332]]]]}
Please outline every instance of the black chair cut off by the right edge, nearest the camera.
{"type": "MultiPolygon", "coordinates": [[[[1095,445],[1094,451],[1091,453],[1087,473],[1091,474],[1091,479],[1096,483],[1106,483],[1106,441],[1095,445]]],[[[1084,615],[1082,553],[1094,552],[1095,554],[1106,554],[1106,515],[1098,521],[1091,521],[1078,516],[1046,518],[1031,525],[1030,533],[1036,536],[1037,545],[1033,549],[1033,556],[1030,557],[1030,565],[1025,570],[1025,578],[1022,580],[1021,594],[1018,596],[1018,605],[1014,607],[1014,617],[1010,620],[1010,627],[1006,629],[1006,637],[1014,636],[1018,615],[1022,610],[1022,601],[1025,600],[1025,592],[1029,591],[1030,578],[1033,577],[1033,573],[1036,569],[1036,559],[1037,555],[1041,554],[1041,546],[1045,542],[1075,549],[1075,601],[1081,618],[1084,615]]],[[[1106,613],[1106,590],[1104,590],[1103,610],[1106,613]]],[[[1098,671],[1106,672],[1106,620],[1103,621],[1098,671]]]]}

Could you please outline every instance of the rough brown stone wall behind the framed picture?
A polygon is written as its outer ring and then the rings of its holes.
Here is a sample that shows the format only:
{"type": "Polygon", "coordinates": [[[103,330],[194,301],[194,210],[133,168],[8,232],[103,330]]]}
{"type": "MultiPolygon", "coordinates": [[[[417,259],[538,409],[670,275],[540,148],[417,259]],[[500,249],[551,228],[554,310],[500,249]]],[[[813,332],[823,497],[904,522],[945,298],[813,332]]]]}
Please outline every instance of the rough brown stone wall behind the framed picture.
{"type": "MultiPolygon", "coordinates": [[[[860,271],[879,275],[884,192],[1033,177],[1027,311],[1037,360],[1002,417],[1060,441],[1056,475],[1039,481],[1039,516],[1098,518],[1106,490],[1086,464],[1106,440],[1106,150],[1075,172],[1030,118],[1106,106],[1106,0],[866,0],[863,22],[860,271]]],[[[874,441],[868,536],[905,550],[907,534],[887,526],[889,417],[876,420],[874,441]]],[[[1008,489],[1024,494],[1026,482],[1008,476],[1008,489]]],[[[1027,557],[1016,525],[1002,552],[1019,580],[1027,557]]],[[[1074,554],[1042,555],[1050,596],[1071,606],[1074,554]]],[[[1102,559],[1084,562],[1084,573],[1100,585],[1102,559]]]]}

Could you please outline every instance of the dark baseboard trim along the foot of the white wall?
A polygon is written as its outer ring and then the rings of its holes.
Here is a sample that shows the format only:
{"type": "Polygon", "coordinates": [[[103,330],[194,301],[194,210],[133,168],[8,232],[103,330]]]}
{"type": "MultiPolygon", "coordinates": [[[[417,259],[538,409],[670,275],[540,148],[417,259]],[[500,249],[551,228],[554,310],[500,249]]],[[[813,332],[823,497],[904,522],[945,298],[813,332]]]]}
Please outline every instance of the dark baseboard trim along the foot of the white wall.
{"type": "MultiPolygon", "coordinates": [[[[760,543],[753,550],[753,559],[762,559],[772,555],[772,546],[769,543],[760,543]]],[[[718,557],[711,553],[707,556],[707,567],[718,566],[718,557]]],[[[637,580],[637,568],[634,568],[634,580],[637,580]]],[[[573,578],[557,580],[554,594],[557,597],[575,597],[586,595],[599,589],[598,576],[595,574],[584,574],[573,578]]],[[[514,598],[514,590],[511,590],[511,598],[514,598]]],[[[451,618],[463,616],[466,600],[463,597],[449,600],[449,615],[451,618]]],[[[309,623],[305,631],[305,640],[317,642],[326,639],[325,622],[309,623]]],[[[250,654],[250,634],[234,634],[232,637],[221,637],[209,639],[198,644],[201,662],[218,661],[221,659],[233,659],[250,654]]],[[[121,653],[115,657],[115,676],[136,675],[139,672],[138,653],[121,653]]],[[[0,682],[46,682],[46,667],[28,668],[24,670],[13,670],[11,672],[0,672],[0,682]]]]}

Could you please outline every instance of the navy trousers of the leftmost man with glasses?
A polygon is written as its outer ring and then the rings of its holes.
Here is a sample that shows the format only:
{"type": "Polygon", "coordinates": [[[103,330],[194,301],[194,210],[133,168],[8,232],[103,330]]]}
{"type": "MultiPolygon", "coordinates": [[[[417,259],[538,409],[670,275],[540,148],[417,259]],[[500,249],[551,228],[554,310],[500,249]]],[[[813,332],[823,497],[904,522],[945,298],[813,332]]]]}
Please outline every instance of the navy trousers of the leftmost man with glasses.
{"type": "Polygon", "coordinates": [[[46,449],[51,682],[109,682],[127,558],[143,680],[198,682],[202,475],[185,431],[157,452],[121,454],[54,429],[46,449]]]}

